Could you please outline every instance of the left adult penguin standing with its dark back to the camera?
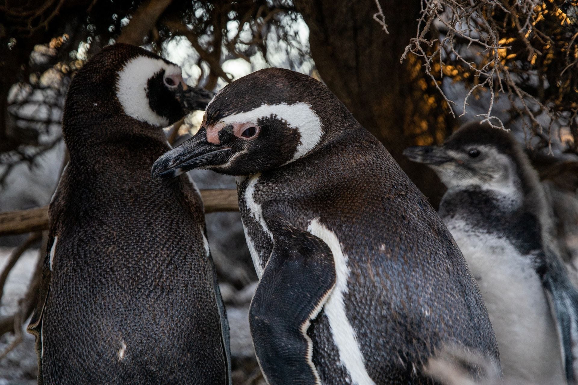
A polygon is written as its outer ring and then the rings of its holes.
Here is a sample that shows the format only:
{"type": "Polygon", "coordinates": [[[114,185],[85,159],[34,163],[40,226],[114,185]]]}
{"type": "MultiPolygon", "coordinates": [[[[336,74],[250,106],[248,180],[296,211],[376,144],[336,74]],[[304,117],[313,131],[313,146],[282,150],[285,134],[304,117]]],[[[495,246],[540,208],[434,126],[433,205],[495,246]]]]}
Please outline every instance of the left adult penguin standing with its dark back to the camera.
{"type": "Polygon", "coordinates": [[[229,383],[201,197],[184,175],[150,177],[170,148],[162,126],[184,115],[177,99],[191,102],[183,88],[179,67],[127,44],[103,48],[72,80],[70,162],[29,325],[40,384],[229,383]]]}

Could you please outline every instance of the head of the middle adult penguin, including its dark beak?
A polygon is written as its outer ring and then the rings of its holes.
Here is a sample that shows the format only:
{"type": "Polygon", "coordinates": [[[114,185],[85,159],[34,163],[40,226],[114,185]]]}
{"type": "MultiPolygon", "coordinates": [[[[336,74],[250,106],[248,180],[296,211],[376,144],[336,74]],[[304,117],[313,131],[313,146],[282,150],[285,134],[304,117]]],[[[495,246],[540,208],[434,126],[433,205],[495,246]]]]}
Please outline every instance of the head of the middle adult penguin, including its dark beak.
{"type": "Polygon", "coordinates": [[[198,133],[157,159],[153,175],[275,169],[317,151],[351,121],[346,107],[319,81],[291,70],[263,69],[217,92],[198,133]]]}

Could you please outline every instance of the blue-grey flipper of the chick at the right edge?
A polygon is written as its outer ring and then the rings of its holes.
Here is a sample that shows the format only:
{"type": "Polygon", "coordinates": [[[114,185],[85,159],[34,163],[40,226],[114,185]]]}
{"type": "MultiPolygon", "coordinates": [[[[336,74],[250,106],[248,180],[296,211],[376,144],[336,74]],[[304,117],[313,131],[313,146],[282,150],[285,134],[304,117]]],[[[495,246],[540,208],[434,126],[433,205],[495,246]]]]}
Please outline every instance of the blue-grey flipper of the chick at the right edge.
{"type": "Polygon", "coordinates": [[[543,286],[560,338],[562,365],[566,381],[568,384],[577,384],[578,291],[570,282],[561,261],[555,265],[549,267],[543,275],[543,286]]]}

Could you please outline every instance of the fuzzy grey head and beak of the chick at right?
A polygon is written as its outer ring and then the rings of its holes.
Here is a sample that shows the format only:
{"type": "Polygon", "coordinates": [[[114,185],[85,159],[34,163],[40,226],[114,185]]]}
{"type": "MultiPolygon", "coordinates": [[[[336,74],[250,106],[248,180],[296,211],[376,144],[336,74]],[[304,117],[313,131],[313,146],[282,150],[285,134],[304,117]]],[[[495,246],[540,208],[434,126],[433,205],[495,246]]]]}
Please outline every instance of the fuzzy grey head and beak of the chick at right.
{"type": "Polygon", "coordinates": [[[428,165],[449,189],[492,189],[511,193],[521,187],[528,163],[513,136],[488,124],[470,122],[442,146],[416,146],[403,154],[428,165]]]}

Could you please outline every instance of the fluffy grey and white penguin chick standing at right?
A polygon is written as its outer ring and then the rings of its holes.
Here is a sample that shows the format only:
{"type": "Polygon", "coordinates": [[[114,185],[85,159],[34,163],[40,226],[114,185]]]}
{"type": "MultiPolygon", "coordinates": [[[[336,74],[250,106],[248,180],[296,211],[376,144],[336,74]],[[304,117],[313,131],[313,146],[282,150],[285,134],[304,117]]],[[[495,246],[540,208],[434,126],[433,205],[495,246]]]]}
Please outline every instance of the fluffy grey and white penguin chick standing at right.
{"type": "Polygon", "coordinates": [[[578,294],[549,239],[544,192],[521,146],[472,122],[442,147],[404,154],[448,188],[439,214],[480,286],[505,378],[576,383],[578,294]]]}

